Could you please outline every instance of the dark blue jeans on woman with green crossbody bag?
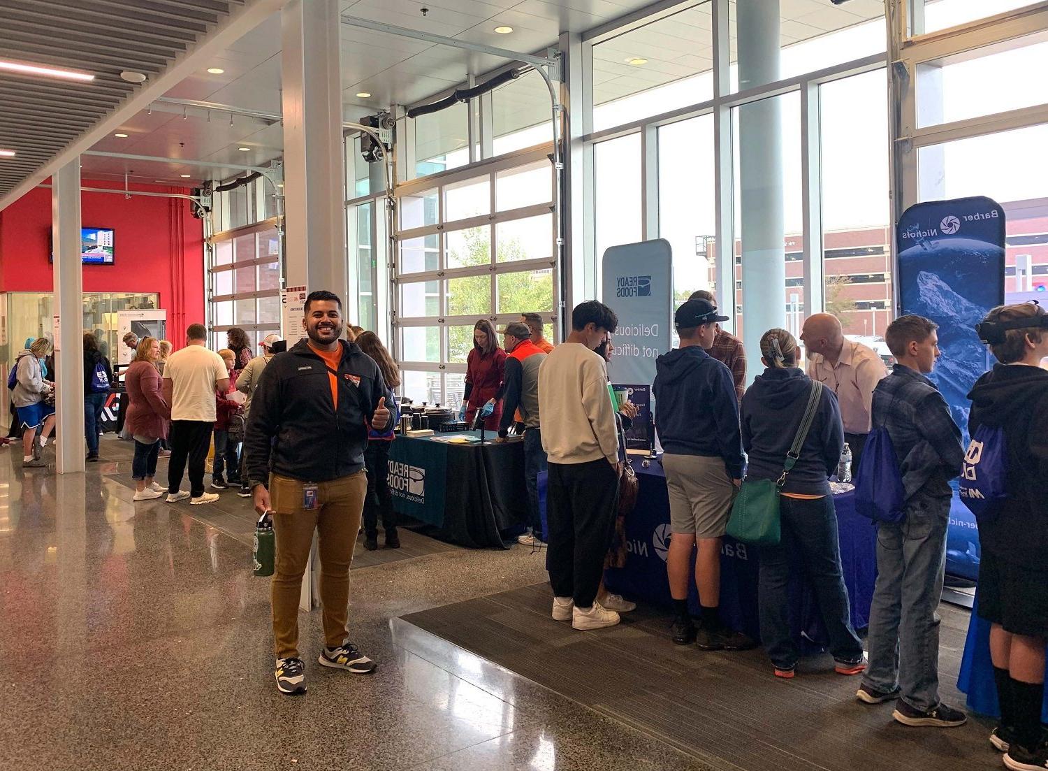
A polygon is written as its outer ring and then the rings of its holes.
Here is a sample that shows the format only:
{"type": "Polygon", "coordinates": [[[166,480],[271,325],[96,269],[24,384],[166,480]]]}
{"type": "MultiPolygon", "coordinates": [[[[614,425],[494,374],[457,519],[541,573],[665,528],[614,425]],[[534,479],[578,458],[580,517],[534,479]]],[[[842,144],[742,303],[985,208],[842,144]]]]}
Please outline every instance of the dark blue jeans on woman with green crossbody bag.
{"type": "Polygon", "coordinates": [[[855,636],[848,607],[848,588],[840,570],[840,543],[833,498],[801,500],[779,496],[782,540],[761,547],[760,613],[764,649],[778,669],[790,669],[800,652],[789,624],[789,573],[792,559],[815,590],[830,652],[838,662],[863,660],[863,643],[855,636]]]}

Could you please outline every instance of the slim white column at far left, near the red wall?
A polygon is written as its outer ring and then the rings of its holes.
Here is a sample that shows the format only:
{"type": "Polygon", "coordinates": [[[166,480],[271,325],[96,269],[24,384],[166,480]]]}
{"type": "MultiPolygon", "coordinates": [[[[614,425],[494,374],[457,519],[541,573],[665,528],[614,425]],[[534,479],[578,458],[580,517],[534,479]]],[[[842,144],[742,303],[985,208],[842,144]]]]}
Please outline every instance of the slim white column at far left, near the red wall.
{"type": "Polygon", "coordinates": [[[84,342],[83,267],[80,244],[80,157],[59,169],[51,188],[51,229],[54,242],[54,312],[59,337],[54,341],[58,369],[54,443],[60,474],[84,470],[84,342]]]}

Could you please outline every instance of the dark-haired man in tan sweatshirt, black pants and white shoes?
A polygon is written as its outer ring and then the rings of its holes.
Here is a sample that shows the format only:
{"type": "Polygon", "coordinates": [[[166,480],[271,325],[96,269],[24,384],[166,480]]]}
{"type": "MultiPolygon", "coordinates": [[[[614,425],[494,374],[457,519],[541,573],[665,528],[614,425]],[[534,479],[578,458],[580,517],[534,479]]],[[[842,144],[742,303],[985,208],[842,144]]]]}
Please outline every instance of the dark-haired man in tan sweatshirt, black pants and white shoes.
{"type": "Polygon", "coordinates": [[[553,618],[576,629],[618,623],[596,601],[618,502],[618,435],[604,359],[594,352],[618,326],[607,305],[590,300],[571,312],[571,334],[539,368],[553,618]]]}

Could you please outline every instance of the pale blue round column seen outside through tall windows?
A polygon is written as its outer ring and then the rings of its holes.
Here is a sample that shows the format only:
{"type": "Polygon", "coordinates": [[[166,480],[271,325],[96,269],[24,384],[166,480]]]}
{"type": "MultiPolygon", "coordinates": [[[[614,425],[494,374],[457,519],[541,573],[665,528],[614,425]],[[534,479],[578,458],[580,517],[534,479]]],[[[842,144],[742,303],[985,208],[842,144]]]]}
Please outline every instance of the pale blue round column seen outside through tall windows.
{"type": "MultiPolygon", "coordinates": [[[[779,0],[739,0],[736,7],[739,89],[745,91],[779,80],[779,0]]],[[[739,108],[739,174],[742,330],[750,361],[756,361],[761,336],[786,326],[782,106],[778,99],[739,108]]],[[[750,380],[757,369],[750,367],[750,380]]]]}

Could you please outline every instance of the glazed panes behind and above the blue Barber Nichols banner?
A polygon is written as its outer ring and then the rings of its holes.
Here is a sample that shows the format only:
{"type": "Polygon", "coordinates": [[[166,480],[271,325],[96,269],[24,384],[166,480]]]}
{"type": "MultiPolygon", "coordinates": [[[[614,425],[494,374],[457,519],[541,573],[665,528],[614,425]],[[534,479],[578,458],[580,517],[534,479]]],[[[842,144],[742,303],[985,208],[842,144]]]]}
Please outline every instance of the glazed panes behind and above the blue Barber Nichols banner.
{"type": "Polygon", "coordinates": [[[1048,8],[909,0],[893,29],[915,77],[898,83],[897,216],[925,200],[985,195],[1005,211],[1005,301],[1048,293],[1048,8]],[[923,37],[936,33],[934,38],[923,37]]]}

